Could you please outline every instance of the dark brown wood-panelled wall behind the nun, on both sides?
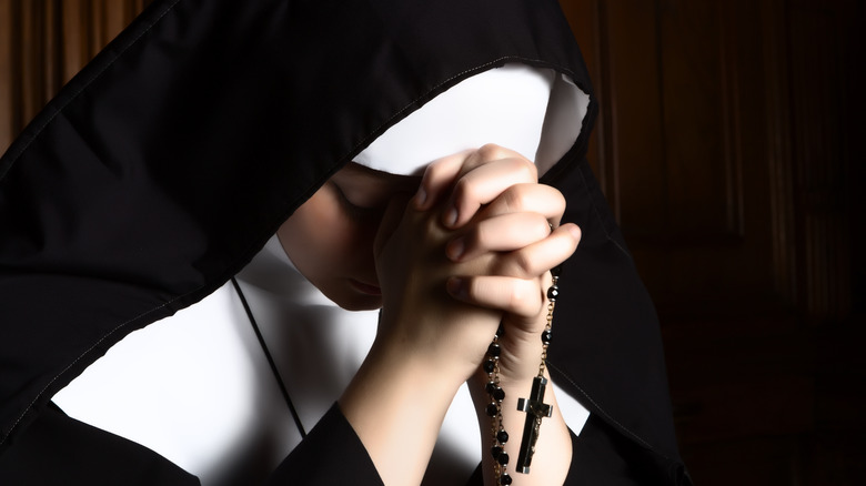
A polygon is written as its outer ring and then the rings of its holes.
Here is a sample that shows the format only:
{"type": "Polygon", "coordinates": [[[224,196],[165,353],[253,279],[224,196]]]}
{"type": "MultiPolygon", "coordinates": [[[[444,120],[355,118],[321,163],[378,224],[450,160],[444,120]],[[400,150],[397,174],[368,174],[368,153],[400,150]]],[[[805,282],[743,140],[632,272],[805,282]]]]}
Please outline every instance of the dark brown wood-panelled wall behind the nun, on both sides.
{"type": "MultiPolygon", "coordinates": [[[[147,0],[0,0],[0,150],[147,0]]],[[[866,484],[856,0],[561,0],[696,484],[866,484]]]]}

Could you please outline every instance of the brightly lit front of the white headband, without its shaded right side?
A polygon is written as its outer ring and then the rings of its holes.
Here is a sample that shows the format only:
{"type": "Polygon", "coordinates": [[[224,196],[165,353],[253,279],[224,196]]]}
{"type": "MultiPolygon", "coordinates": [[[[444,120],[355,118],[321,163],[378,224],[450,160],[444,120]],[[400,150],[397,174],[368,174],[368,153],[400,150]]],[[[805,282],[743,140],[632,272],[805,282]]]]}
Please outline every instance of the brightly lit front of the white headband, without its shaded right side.
{"type": "Polygon", "coordinates": [[[553,71],[524,64],[476,74],[389,129],[354,162],[420,175],[434,160],[486,143],[535,160],[553,80],[553,71]]]}

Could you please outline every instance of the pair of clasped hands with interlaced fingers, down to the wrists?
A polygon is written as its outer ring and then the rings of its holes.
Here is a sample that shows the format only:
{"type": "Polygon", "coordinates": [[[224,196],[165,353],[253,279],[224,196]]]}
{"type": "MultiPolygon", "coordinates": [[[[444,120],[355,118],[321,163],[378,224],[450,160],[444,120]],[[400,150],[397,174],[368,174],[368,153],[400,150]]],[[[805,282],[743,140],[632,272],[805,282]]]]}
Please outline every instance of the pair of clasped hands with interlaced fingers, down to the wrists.
{"type": "Polygon", "coordinates": [[[535,165],[507,149],[431,164],[414,198],[392,201],[376,235],[377,340],[462,383],[502,324],[502,379],[537,374],[548,270],[580,241],[576,225],[558,226],[564,210],[535,165]]]}

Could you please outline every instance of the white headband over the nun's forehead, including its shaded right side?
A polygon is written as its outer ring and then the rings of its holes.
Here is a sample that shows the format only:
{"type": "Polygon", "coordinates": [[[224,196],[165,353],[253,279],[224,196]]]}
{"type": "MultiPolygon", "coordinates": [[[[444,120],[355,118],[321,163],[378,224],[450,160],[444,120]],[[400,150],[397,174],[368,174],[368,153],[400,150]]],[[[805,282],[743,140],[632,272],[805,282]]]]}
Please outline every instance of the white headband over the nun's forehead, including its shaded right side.
{"type": "Polygon", "coordinates": [[[534,160],[544,174],[577,139],[588,104],[586,93],[553,70],[505,64],[432,99],[354,162],[393,174],[421,174],[445,155],[496,143],[534,160]]]}

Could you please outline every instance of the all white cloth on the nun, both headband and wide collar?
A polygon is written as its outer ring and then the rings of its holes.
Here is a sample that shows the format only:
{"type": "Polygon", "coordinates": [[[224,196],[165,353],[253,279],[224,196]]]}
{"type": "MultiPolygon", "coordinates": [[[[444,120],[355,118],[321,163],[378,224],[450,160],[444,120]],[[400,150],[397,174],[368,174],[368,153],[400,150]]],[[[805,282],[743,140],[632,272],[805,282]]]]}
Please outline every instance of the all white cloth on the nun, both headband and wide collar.
{"type": "MultiPolygon", "coordinates": [[[[389,130],[356,162],[417,173],[432,160],[494,142],[536,154],[543,172],[577,136],[587,101],[548,70],[487,71],[389,130]]],[[[239,280],[310,431],[366,355],[377,314],[330,302],[298,273],[275,236],[239,280]]],[[[561,389],[557,399],[568,426],[580,432],[586,409],[561,389]]],[[[238,474],[253,484],[251,472],[266,474],[300,442],[231,284],[130,334],[54,402],[74,418],[160,453],[203,486],[226,484],[238,474]]],[[[462,484],[480,458],[477,422],[464,386],[431,460],[431,470],[441,475],[425,483],[462,484]]]]}

